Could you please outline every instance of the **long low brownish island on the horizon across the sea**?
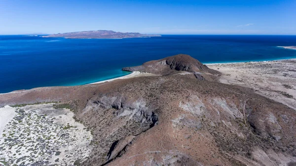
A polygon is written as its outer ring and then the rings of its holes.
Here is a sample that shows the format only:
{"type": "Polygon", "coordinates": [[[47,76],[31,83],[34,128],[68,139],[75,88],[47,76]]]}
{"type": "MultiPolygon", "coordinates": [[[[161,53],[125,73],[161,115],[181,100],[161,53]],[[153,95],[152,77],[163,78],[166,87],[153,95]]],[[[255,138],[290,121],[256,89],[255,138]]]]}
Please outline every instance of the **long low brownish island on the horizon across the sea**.
{"type": "Polygon", "coordinates": [[[66,38],[66,39],[122,39],[122,38],[149,38],[161,37],[160,35],[146,35],[140,33],[123,33],[107,30],[98,31],[82,31],[82,32],[69,32],[63,34],[53,34],[42,36],[43,38],[66,38]]]}

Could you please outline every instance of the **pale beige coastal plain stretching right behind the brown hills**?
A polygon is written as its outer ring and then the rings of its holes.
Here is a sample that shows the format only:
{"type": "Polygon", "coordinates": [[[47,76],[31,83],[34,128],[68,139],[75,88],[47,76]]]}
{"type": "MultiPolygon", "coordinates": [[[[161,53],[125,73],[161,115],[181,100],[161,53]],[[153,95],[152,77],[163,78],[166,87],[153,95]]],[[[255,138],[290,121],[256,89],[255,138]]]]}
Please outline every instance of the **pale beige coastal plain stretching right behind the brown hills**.
{"type": "Polygon", "coordinates": [[[207,66],[222,73],[221,83],[250,87],[296,110],[296,59],[207,66]]]}

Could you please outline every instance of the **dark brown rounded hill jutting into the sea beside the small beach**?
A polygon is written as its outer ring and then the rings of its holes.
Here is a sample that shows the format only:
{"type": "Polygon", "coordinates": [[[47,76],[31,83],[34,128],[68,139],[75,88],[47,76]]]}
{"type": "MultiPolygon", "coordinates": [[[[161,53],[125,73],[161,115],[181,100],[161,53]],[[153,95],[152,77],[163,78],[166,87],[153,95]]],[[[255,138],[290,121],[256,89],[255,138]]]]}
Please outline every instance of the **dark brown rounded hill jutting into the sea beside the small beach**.
{"type": "Polygon", "coordinates": [[[144,63],[141,66],[125,67],[124,71],[140,71],[153,74],[167,75],[173,71],[186,71],[190,73],[203,73],[203,74],[220,74],[220,72],[208,68],[198,60],[189,55],[178,54],[175,56],[166,57],[160,60],[153,60],[144,63]]]}

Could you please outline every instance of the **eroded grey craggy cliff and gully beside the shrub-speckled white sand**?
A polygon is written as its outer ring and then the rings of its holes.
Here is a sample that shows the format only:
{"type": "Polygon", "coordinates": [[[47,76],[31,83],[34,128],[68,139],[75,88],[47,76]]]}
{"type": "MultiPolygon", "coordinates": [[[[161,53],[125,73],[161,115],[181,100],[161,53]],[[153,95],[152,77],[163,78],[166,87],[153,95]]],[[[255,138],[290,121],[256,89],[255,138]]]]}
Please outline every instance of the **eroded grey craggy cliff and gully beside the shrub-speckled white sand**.
{"type": "Polygon", "coordinates": [[[158,121],[154,109],[148,107],[144,99],[132,101],[124,95],[104,95],[90,99],[82,111],[81,118],[87,120],[95,135],[95,144],[99,145],[85,165],[110,163],[125,153],[127,146],[137,135],[153,127],[158,121]],[[108,126],[98,125],[96,120],[106,115],[108,118],[102,121],[108,126]]]}

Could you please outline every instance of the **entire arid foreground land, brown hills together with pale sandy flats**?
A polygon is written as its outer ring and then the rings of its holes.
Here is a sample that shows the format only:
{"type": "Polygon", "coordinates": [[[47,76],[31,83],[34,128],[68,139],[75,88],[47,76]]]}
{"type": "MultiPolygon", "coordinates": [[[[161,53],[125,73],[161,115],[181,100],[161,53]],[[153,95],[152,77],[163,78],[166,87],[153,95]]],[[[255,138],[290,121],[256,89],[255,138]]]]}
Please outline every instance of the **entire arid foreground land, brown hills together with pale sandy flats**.
{"type": "Polygon", "coordinates": [[[0,94],[0,162],[295,166],[295,61],[209,67],[179,54],[124,68],[153,76],[0,94]]]}

